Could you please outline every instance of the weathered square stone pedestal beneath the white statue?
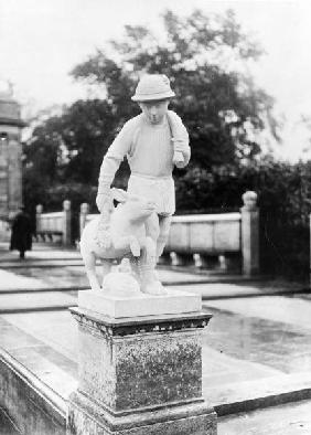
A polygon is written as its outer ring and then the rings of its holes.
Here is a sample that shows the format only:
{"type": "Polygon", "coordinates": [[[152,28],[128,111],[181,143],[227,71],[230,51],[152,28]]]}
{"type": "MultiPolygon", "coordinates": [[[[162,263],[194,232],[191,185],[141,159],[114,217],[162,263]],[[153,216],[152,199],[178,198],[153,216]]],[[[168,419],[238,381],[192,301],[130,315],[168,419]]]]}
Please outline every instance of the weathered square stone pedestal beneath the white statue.
{"type": "Polygon", "coordinates": [[[202,397],[201,336],[211,315],[189,311],[197,308],[192,296],[184,299],[189,309],[180,306],[185,312],[165,314],[161,296],[157,315],[124,318],[108,317],[98,300],[101,312],[84,308],[79,299],[72,309],[79,327],[79,384],[69,399],[68,434],[216,434],[216,414],[202,397]]]}

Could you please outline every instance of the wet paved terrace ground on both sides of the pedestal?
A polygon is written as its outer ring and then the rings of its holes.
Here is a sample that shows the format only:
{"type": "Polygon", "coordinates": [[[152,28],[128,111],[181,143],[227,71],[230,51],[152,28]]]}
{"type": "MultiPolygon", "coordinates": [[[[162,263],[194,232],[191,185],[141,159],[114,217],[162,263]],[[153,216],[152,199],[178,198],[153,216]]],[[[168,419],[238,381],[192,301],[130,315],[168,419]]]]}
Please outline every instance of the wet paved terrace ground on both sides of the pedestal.
{"type": "MultiPolygon", "coordinates": [[[[2,265],[15,262],[21,266],[11,254],[6,255],[4,259],[1,258],[2,265]]],[[[7,307],[19,305],[25,309],[37,309],[37,312],[8,311],[0,316],[1,347],[54,391],[67,397],[77,382],[76,322],[66,309],[49,312],[43,308],[53,304],[56,307],[62,303],[63,308],[75,305],[76,291],[58,295],[55,291],[39,291],[36,295],[31,293],[35,288],[87,286],[87,282],[82,265],[69,265],[69,262],[79,261],[77,252],[53,252],[45,262],[45,267],[41,267],[39,263],[44,262],[44,255],[46,257],[44,251],[32,253],[32,259],[29,261],[34,264],[31,267],[0,268],[0,309],[6,304],[7,307]],[[63,259],[60,259],[61,255],[63,259]],[[62,265],[55,262],[62,262],[62,265]],[[10,291],[1,294],[17,287],[23,295],[10,291]]],[[[206,284],[204,275],[168,269],[160,270],[160,275],[162,280],[174,285],[172,288],[200,293],[204,298],[210,298],[203,304],[204,310],[213,314],[203,337],[203,391],[205,399],[216,406],[219,415],[230,412],[225,409],[229,403],[242,403],[240,409],[244,402],[256,401],[258,397],[270,396],[277,401],[281,394],[289,394],[289,397],[297,400],[301,397],[302,391],[310,396],[309,295],[272,296],[276,286],[267,282],[206,284]],[[261,296],[266,293],[271,296],[261,296]],[[243,297],[245,294],[253,297],[243,297]],[[222,299],[224,295],[232,297],[222,299]]],[[[290,289],[291,283],[287,283],[285,288],[290,289]]],[[[278,402],[271,401],[268,404],[272,403],[278,402]]],[[[267,402],[259,405],[266,406],[267,402]]],[[[311,434],[310,421],[303,420],[308,406],[310,402],[294,405],[296,412],[287,412],[286,416],[289,418],[282,418],[283,426],[276,426],[275,432],[268,431],[268,423],[265,423],[267,429],[261,425],[260,431],[264,432],[259,431],[258,422],[268,422],[272,415],[268,411],[266,414],[262,410],[262,414],[255,412],[230,416],[230,420],[223,417],[219,435],[311,434]],[[300,414],[303,416],[302,426],[297,423],[300,414]],[[305,432],[305,427],[309,432],[305,432]],[[294,429],[300,432],[290,432],[294,429]]],[[[275,415],[282,415],[282,409],[275,409],[275,415]]]]}

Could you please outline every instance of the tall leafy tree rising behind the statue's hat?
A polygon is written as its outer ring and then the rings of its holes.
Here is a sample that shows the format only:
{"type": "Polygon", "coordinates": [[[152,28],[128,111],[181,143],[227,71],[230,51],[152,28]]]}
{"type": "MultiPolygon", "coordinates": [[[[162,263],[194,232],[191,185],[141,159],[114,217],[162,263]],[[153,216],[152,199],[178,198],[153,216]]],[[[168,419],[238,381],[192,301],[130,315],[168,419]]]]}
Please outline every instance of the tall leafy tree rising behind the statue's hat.
{"type": "Polygon", "coordinates": [[[98,50],[73,76],[104,87],[122,125],[137,113],[130,96],[139,74],[167,74],[178,96],[172,106],[190,130],[194,166],[251,160],[260,152],[254,132],[265,127],[272,99],[235,66],[257,60],[260,49],[232,11],[208,18],[196,10],[185,19],[167,11],[163,24],[163,43],[144,26],[126,25],[124,40],[110,41],[106,52],[98,50]]]}

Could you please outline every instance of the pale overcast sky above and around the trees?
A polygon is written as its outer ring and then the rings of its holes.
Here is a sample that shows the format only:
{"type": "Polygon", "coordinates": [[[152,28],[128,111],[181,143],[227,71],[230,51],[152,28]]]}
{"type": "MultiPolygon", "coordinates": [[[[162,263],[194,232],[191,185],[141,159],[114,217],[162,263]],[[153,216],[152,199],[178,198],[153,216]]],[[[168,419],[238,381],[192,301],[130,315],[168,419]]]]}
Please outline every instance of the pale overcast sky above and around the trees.
{"type": "Polygon", "coordinates": [[[243,29],[266,50],[256,83],[285,116],[283,156],[299,157],[307,136],[299,120],[311,117],[311,1],[309,0],[0,0],[0,78],[14,84],[29,112],[85,95],[68,72],[125,24],[160,29],[165,9],[189,14],[236,11],[243,29]]]}

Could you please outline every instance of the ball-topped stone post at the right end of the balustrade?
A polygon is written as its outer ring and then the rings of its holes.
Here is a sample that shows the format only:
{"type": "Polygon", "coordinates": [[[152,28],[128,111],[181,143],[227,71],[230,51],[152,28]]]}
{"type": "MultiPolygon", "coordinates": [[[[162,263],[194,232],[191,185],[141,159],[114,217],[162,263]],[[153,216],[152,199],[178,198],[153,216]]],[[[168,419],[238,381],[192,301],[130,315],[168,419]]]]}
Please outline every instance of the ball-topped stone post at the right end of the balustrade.
{"type": "Polygon", "coordinates": [[[243,194],[242,214],[242,258],[243,274],[253,276],[259,273],[259,209],[257,193],[243,194]]]}

